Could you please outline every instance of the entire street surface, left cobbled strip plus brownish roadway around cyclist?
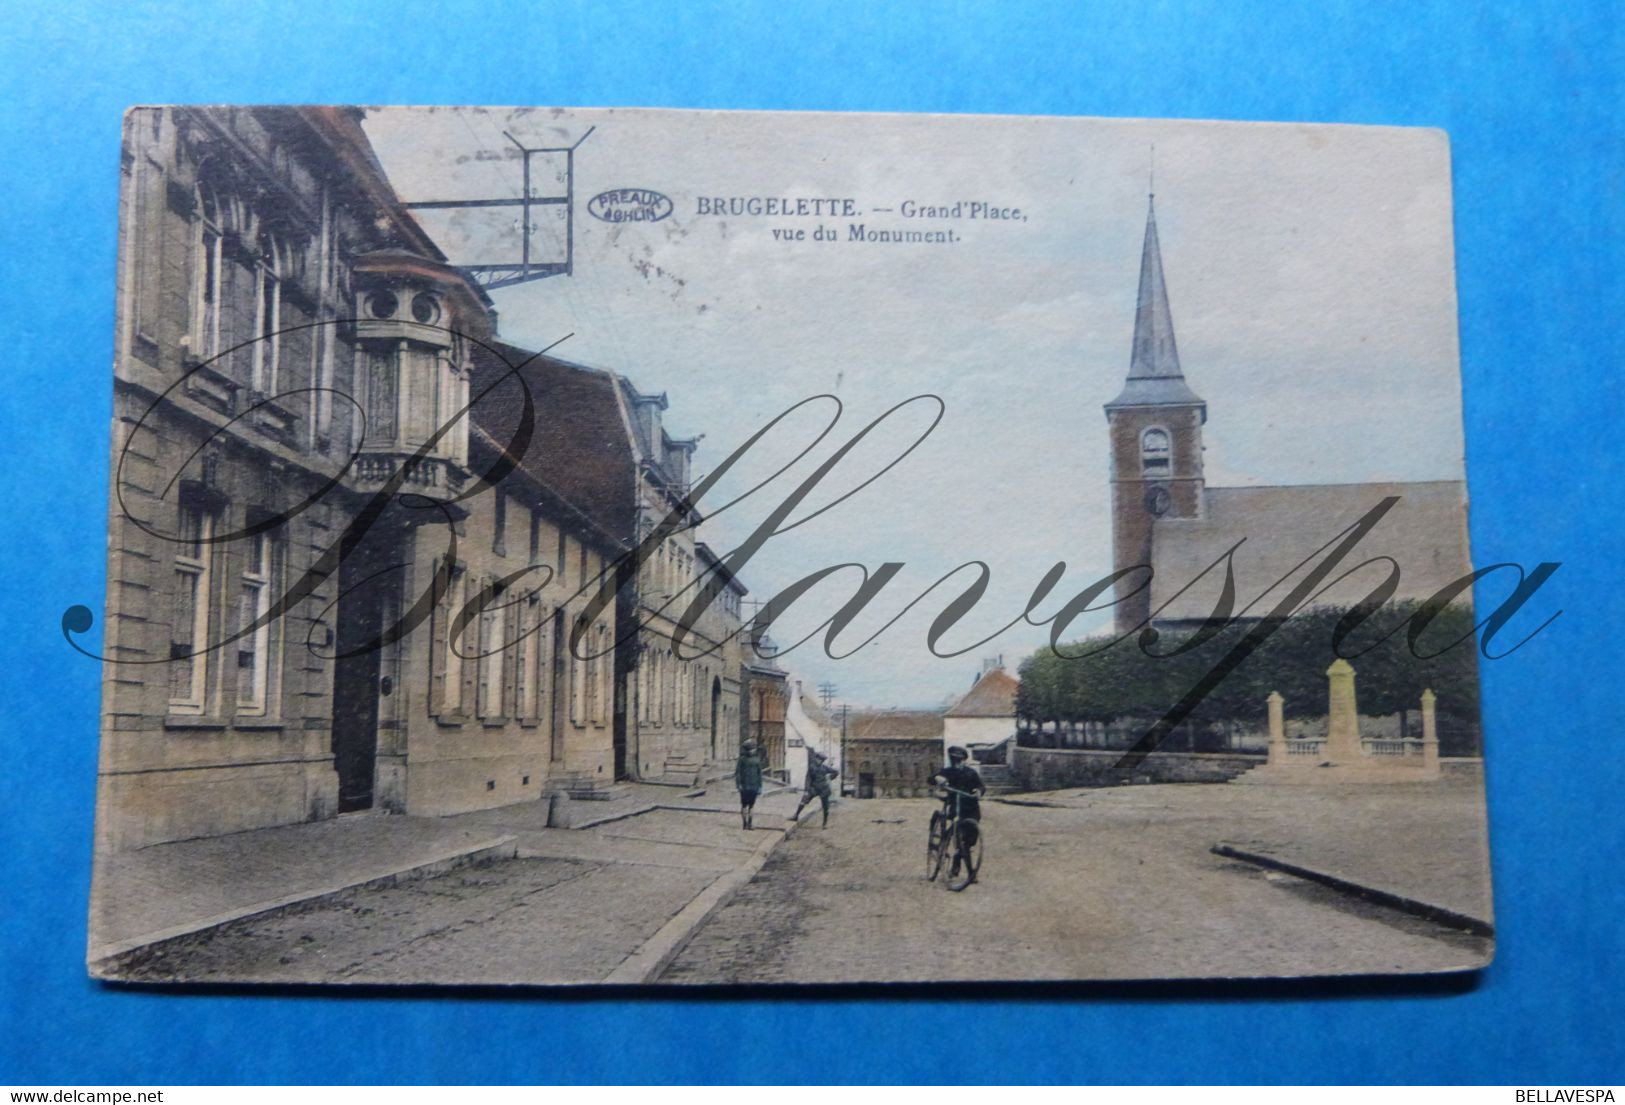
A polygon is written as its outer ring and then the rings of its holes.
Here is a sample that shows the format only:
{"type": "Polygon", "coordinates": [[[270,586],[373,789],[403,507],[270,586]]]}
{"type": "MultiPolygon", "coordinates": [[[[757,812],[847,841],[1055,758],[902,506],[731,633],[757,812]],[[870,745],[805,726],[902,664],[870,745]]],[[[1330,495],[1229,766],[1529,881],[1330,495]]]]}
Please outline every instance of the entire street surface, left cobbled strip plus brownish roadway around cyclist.
{"type": "Polygon", "coordinates": [[[1284,977],[1461,970],[1487,962],[1492,947],[1211,852],[1232,840],[1341,873],[1362,874],[1363,864],[1372,884],[1488,916],[1471,785],[1120,786],[994,800],[983,811],[982,878],[959,894],[923,878],[928,800],[848,798],[827,829],[814,806],[780,843],[793,793],[764,800],[756,832],[739,827],[730,798],[713,793],[692,808],[583,830],[515,821],[535,811],[468,814],[478,829],[517,829],[518,856],[359,886],[167,939],[127,956],[119,977],[492,985],[1284,977]],[[730,878],[736,890],[723,886],[730,878]],[[692,905],[705,894],[710,905],[692,905]],[[684,928],[684,916],[694,923],[684,928]],[[626,964],[645,960],[650,973],[626,973],[626,964]]]}

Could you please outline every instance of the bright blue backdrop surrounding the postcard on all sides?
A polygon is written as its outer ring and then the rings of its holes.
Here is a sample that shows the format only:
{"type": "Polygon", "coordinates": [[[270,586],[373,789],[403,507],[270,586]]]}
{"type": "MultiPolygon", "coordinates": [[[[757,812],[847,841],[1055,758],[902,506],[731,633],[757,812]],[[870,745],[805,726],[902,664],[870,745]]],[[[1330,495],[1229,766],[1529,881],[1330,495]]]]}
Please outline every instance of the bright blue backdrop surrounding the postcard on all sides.
{"type": "MultiPolygon", "coordinates": [[[[26,5],[0,46],[0,1082],[1620,1081],[1614,5],[26,5]],[[1562,561],[1484,668],[1500,951],[1476,986],[275,998],[81,957],[120,112],[497,102],[1419,124],[1456,172],[1479,564],[1562,561]],[[1534,619],[1539,621],[1539,619],[1534,619]],[[1532,627],[1534,621],[1528,622],[1532,627]],[[1609,676],[1607,671],[1615,671],[1609,676]]],[[[1495,592],[1498,595],[1500,592],[1495,592]]],[[[1480,593],[1480,603],[1487,596],[1480,593]]],[[[1157,918],[1146,918],[1147,926],[1157,918]]]]}

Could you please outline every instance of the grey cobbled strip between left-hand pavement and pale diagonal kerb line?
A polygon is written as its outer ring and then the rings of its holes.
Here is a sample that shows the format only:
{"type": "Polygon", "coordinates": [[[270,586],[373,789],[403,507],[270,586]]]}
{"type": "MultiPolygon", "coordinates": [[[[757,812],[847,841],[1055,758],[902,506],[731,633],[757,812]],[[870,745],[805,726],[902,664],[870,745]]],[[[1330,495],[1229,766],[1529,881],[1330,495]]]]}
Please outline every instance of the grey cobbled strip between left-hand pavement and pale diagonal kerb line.
{"type": "Polygon", "coordinates": [[[726,804],[650,809],[583,830],[541,829],[525,804],[445,822],[510,830],[518,858],[395,886],[361,886],[166,939],[122,957],[130,982],[603,982],[686,905],[778,838],[793,793],[759,803],[754,832],[726,804]]]}

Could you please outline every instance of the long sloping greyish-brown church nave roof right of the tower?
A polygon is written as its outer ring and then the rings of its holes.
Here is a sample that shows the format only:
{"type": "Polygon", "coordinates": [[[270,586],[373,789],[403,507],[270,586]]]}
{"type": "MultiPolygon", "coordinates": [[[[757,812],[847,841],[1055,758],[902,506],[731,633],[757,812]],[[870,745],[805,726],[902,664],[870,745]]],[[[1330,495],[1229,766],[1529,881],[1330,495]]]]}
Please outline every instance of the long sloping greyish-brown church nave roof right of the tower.
{"type": "Polygon", "coordinates": [[[1261,618],[1271,613],[1324,557],[1316,551],[1388,496],[1398,496],[1399,502],[1323,580],[1323,587],[1329,587],[1311,604],[1352,606],[1367,598],[1386,577],[1386,564],[1363,567],[1337,583],[1331,580],[1373,557],[1393,557],[1399,566],[1396,600],[1428,598],[1472,570],[1467,486],[1456,479],[1207,488],[1202,517],[1159,518],[1152,528],[1152,616],[1172,622],[1202,621],[1212,614],[1224,590],[1224,564],[1191,580],[1243,538],[1246,541],[1232,557],[1232,614],[1261,618]],[[1185,593],[1178,593],[1181,588],[1185,593]],[[1251,608],[1243,611],[1248,603],[1251,608]]]}

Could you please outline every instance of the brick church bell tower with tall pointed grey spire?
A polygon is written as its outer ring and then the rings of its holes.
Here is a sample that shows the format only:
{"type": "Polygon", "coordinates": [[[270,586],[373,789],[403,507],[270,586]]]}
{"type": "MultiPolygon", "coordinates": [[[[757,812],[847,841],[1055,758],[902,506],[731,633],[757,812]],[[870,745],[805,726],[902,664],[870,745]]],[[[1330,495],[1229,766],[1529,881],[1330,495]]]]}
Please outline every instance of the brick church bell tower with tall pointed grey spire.
{"type": "MultiPolygon", "coordinates": [[[[1146,244],[1139,257],[1128,380],[1105,411],[1112,440],[1112,567],[1149,566],[1160,520],[1202,515],[1202,422],[1207,421],[1207,403],[1180,370],[1157,244],[1155,193],[1146,213],[1146,244]]],[[[1120,580],[1118,596],[1144,582],[1144,574],[1120,580]]],[[[1150,590],[1141,590],[1113,609],[1116,632],[1133,630],[1150,618],[1150,590]]]]}

